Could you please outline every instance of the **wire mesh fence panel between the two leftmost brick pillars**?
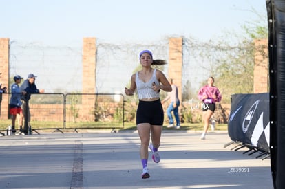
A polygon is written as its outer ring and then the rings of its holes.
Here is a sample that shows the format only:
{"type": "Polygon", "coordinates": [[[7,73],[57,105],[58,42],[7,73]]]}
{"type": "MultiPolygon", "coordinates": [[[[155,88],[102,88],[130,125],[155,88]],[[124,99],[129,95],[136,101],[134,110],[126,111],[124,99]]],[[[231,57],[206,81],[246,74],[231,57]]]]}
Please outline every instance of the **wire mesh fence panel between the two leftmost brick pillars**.
{"type": "Polygon", "coordinates": [[[37,76],[36,86],[48,93],[78,93],[77,86],[82,82],[81,44],[50,46],[10,41],[9,45],[10,76],[19,74],[25,79],[32,73],[37,76]]]}

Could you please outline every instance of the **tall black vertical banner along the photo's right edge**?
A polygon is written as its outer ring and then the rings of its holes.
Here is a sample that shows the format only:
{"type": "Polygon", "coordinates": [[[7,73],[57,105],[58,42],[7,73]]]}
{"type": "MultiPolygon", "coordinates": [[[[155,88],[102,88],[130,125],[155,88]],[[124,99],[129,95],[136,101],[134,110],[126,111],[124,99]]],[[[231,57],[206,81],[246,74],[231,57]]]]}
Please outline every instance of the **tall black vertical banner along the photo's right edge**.
{"type": "Polygon", "coordinates": [[[266,0],[270,93],[270,150],[274,188],[285,188],[285,1],[266,0]]]}

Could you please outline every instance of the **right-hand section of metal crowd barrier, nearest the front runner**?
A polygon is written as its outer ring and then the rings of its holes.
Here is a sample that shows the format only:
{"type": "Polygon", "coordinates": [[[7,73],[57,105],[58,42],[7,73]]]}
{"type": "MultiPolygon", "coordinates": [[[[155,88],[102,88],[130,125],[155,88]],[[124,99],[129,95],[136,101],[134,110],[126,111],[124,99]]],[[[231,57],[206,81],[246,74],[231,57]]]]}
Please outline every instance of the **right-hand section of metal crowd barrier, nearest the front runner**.
{"type": "Polygon", "coordinates": [[[123,120],[123,94],[66,95],[66,129],[123,128],[123,120]]]}

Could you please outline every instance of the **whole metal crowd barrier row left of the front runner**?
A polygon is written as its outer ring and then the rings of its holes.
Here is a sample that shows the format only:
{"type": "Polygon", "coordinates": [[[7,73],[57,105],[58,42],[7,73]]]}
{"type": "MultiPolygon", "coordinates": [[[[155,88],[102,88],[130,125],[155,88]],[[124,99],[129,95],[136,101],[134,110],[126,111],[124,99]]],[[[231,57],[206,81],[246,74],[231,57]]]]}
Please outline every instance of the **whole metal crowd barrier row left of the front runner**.
{"type": "MultiPolygon", "coordinates": [[[[0,131],[11,125],[9,101],[11,93],[2,94],[0,131]]],[[[124,128],[124,96],[120,93],[40,93],[28,100],[30,124],[24,116],[25,129],[122,129],[124,128]]],[[[26,115],[27,112],[23,112],[26,115]]],[[[16,129],[19,122],[16,121],[16,129]]],[[[38,132],[37,132],[38,133],[38,132]]]]}

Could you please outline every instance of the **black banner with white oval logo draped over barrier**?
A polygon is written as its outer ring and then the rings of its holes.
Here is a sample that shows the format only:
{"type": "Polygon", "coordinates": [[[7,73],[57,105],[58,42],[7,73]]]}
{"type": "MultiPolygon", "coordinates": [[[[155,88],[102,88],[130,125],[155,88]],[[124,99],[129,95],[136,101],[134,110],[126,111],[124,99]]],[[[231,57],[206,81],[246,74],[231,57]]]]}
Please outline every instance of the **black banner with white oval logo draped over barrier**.
{"type": "Polygon", "coordinates": [[[231,140],[269,153],[269,93],[234,94],[231,100],[231,140]]]}

